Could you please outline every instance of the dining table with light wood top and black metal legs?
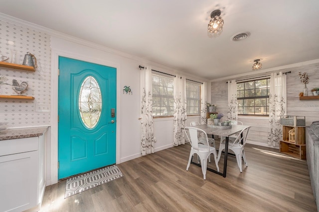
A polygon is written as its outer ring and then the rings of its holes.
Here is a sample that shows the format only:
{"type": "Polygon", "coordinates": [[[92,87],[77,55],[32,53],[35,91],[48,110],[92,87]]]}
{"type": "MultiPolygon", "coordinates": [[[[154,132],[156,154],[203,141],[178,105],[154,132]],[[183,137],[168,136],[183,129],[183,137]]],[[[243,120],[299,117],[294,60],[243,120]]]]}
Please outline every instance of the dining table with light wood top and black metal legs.
{"type": "MultiPolygon", "coordinates": [[[[249,126],[245,125],[231,125],[231,127],[226,128],[225,126],[213,126],[213,127],[208,127],[207,125],[198,125],[195,126],[195,128],[201,129],[205,131],[207,135],[212,135],[213,138],[214,136],[219,136],[219,137],[225,137],[225,150],[224,150],[224,168],[223,172],[218,172],[217,170],[214,170],[212,168],[207,167],[208,171],[211,171],[213,173],[219,174],[223,177],[226,177],[226,172],[227,172],[227,158],[228,158],[228,143],[229,143],[229,137],[235,134],[240,133],[242,130],[247,128],[249,126]]],[[[198,166],[200,164],[192,162],[198,166]]]]}

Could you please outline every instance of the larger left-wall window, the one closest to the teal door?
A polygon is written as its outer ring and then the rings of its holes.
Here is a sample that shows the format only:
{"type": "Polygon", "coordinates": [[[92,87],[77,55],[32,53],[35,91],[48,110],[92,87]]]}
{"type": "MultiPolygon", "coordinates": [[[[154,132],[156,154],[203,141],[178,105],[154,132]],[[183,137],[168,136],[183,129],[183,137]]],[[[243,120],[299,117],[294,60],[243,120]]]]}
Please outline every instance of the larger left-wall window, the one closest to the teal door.
{"type": "Polygon", "coordinates": [[[173,84],[173,78],[152,73],[153,116],[173,115],[173,84]]]}

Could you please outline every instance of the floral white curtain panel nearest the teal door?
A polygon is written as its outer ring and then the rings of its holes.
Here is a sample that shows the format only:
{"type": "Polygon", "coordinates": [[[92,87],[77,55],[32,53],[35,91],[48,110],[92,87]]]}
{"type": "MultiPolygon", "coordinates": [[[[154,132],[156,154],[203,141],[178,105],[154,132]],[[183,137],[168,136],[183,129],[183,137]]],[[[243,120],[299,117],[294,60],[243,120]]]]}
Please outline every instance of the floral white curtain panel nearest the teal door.
{"type": "Polygon", "coordinates": [[[142,155],[154,153],[156,138],[154,137],[152,106],[152,69],[145,67],[144,70],[141,70],[142,155]]]}

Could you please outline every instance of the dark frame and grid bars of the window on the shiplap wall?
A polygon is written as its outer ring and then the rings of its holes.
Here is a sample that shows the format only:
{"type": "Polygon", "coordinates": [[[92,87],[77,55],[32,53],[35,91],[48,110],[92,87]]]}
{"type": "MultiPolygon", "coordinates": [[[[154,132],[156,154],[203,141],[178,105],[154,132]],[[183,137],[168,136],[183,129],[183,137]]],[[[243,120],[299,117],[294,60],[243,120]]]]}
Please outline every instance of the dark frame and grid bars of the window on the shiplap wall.
{"type": "MultiPolygon", "coordinates": [[[[240,114],[238,113],[238,116],[256,116],[256,117],[269,117],[269,89],[270,89],[270,76],[267,76],[267,77],[262,77],[262,78],[256,78],[256,79],[253,79],[253,80],[241,80],[241,81],[238,81],[236,82],[236,87],[238,84],[240,83],[244,83],[244,89],[243,90],[238,90],[238,88],[236,88],[236,92],[237,92],[237,102],[238,100],[247,100],[247,99],[253,99],[254,100],[254,106],[250,106],[250,107],[254,107],[254,114],[240,114]],[[256,89],[259,89],[259,88],[256,88],[256,81],[258,80],[264,80],[266,79],[266,88],[267,88],[267,95],[263,95],[263,96],[256,96],[256,89]],[[268,82],[269,81],[269,82],[268,82]],[[245,91],[247,90],[252,90],[252,88],[250,89],[246,89],[245,88],[245,83],[246,82],[254,82],[254,95],[253,97],[245,97],[245,91]],[[244,97],[238,97],[238,91],[243,91],[244,92],[244,97]],[[264,107],[264,106],[256,106],[256,99],[266,99],[266,114],[256,114],[256,107],[264,107]],[[267,101],[268,100],[268,101],[267,101]]],[[[248,106],[246,106],[248,107],[248,106]]],[[[239,108],[239,107],[237,107],[239,108]]],[[[242,108],[244,109],[245,106],[243,104],[242,108]]]]}

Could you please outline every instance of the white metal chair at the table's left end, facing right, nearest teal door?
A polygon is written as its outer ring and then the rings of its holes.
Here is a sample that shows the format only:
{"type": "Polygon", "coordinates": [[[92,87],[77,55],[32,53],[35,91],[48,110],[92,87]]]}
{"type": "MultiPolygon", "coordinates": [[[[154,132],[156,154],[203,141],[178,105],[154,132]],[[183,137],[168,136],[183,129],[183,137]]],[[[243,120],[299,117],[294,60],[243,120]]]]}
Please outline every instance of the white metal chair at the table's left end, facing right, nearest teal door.
{"type": "Polygon", "coordinates": [[[217,154],[216,149],[215,149],[215,147],[209,145],[208,137],[207,137],[207,134],[205,133],[205,131],[198,129],[198,128],[194,128],[194,127],[185,127],[185,134],[186,134],[188,141],[191,144],[186,171],[188,171],[191,159],[192,159],[193,155],[196,153],[197,156],[200,158],[201,170],[203,172],[204,180],[206,180],[207,159],[209,158],[210,154],[214,155],[214,160],[215,160],[215,164],[217,167],[217,171],[219,172],[219,167],[218,167],[217,158],[216,158],[216,154],[217,154]],[[205,145],[202,144],[203,141],[199,141],[199,138],[198,138],[199,134],[204,135],[204,138],[206,139],[205,145]]]}

